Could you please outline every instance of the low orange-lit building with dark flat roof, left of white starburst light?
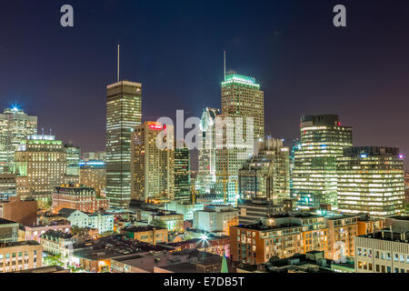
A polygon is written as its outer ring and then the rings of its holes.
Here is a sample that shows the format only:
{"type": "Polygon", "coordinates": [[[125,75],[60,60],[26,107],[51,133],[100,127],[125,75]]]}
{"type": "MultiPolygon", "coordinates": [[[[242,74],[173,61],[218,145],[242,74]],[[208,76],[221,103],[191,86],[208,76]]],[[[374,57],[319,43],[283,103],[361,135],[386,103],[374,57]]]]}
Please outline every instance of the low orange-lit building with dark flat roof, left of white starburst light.
{"type": "Polygon", "coordinates": [[[155,226],[128,226],[121,229],[126,237],[152,245],[167,243],[167,228],[155,226]]]}

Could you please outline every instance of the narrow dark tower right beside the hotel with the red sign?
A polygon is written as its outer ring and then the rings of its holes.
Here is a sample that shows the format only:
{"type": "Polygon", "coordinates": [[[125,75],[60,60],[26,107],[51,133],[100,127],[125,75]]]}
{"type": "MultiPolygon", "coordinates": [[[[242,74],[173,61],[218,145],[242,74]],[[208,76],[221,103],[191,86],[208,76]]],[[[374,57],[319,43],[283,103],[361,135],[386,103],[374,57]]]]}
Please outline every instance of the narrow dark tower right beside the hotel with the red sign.
{"type": "Polygon", "coordinates": [[[175,200],[191,201],[190,150],[175,148],[175,200]]]}

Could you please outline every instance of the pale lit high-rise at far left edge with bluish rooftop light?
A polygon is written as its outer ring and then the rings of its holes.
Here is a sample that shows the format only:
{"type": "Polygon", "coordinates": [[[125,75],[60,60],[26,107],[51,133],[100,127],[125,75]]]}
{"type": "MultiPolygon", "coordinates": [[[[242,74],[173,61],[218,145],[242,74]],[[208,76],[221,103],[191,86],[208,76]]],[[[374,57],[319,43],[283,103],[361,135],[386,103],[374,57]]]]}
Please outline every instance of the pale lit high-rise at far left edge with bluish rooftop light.
{"type": "Polygon", "coordinates": [[[0,174],[11,173],[15,150],[27,135],[37,134],[37,116],[26,115],[16,106],[0,114],[0,174]]]}

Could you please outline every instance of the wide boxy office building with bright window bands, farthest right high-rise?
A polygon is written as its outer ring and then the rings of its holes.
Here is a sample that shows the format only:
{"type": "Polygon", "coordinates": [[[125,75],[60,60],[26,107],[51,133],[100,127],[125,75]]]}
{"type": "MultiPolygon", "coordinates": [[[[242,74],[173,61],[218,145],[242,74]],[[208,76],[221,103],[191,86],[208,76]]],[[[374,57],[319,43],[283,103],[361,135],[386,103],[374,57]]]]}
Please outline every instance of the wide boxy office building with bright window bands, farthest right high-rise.
{"type": "Polygon", "coordinates": [[[404,212],[403,156],[394,147],[354,146],[338,157],[338,207],[344,213],[404,212]]]}

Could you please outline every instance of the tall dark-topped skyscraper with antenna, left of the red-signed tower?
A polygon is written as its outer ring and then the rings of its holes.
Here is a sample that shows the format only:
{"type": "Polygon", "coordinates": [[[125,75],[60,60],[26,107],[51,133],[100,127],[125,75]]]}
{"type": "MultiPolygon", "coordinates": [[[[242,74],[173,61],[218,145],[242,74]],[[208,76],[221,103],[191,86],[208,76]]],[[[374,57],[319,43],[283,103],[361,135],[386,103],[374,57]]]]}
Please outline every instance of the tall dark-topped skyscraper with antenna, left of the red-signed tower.
{"type": "Polygon", "coordinates": [[[106,196],[110,206],[127,208],[131,198],[131,134],[142,122],[142,84],[107,85],[106,196]]]}

